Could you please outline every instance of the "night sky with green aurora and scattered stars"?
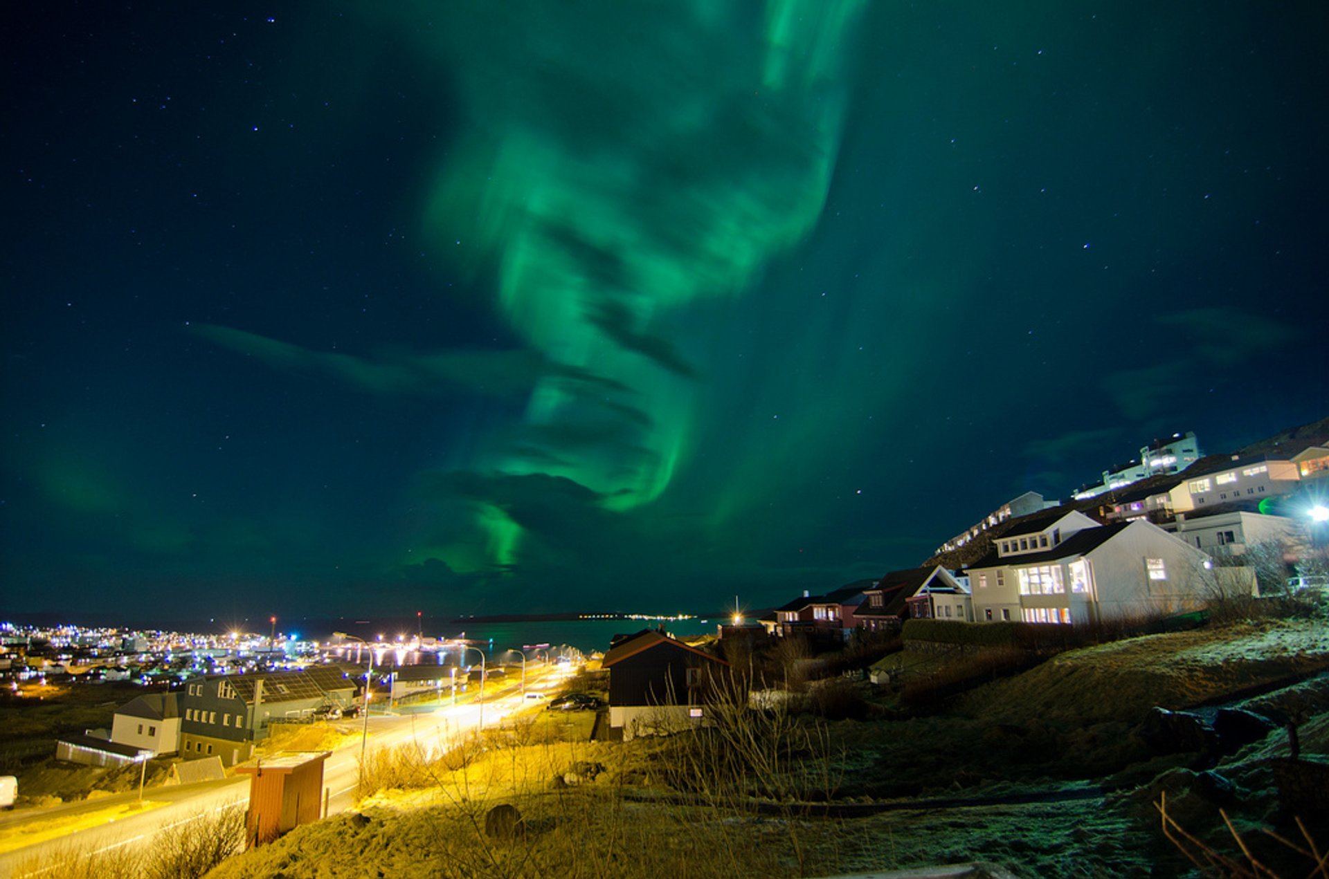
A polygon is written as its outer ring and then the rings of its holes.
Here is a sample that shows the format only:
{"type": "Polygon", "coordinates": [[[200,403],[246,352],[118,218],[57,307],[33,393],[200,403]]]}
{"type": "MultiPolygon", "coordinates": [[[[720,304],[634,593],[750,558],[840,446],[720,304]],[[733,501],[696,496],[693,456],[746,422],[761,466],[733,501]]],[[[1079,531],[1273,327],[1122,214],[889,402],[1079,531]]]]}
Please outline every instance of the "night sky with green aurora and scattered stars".
{"type": "Polygon", "coordinates": [[[1324,3],[4,4],[0,611],[706,611],[1329,413],[1324,3]]]}

